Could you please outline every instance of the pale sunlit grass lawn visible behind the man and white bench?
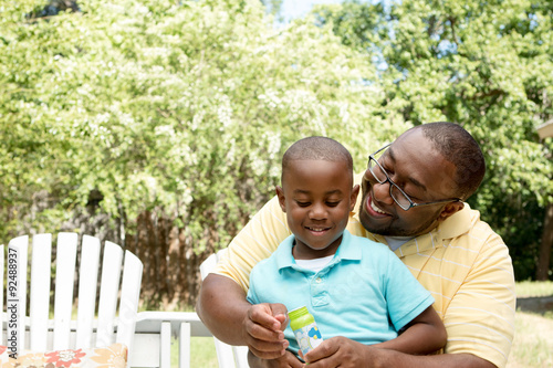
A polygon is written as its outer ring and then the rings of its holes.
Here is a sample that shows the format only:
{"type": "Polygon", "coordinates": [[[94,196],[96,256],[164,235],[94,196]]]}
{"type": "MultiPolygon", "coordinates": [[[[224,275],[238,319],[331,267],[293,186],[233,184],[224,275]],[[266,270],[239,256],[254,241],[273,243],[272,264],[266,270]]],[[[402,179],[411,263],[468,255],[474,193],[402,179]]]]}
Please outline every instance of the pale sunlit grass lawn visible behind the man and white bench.
{"type": "MultiPolygon", "coordinates": [[[[517,283],[519,296],[552,296],[553,282],[517,283]]],[[[553,311],[542,314],[517,312],[517,334],[509,356],[508,368],[553,367],[553,311]]],[[[194,337],[190,367],[217,368],[217,355],[210,337],[194,337]]],[[[171,351],[171,367],[178,367],[178,348],[171,351]]]]}

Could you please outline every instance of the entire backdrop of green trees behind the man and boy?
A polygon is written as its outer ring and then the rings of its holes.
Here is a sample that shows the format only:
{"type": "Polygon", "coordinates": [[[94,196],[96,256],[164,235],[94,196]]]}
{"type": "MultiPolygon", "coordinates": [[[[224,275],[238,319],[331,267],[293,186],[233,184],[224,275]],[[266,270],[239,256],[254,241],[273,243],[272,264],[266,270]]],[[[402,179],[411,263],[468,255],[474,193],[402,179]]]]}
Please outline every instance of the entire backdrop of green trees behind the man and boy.
{"type": "Polygon", "coordinates": [[[199,263],[273,196],[292,141],[333,137],[362,171],[449,120],[484,151],[469,203],[517,280],[552,280],[551,1],[281,6],[0,0],[0,242],[94,234],[143,260],[147,307],[194,305],[199,263]]]}

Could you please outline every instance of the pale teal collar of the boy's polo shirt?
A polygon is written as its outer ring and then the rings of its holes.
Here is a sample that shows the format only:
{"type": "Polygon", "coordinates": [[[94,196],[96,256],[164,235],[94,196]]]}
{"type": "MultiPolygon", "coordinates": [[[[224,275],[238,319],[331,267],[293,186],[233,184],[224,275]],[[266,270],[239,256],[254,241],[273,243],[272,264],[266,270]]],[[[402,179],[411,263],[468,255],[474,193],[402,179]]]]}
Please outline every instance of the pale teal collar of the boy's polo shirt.
{"type": "MultiPolygon", "coordinates": [[[[294,235],[288,236],[276,249],[276,267],[279,270],[292,267],[295,265],[295,260],[292,256],[292,248],[294,245],[294,235]]],[[[342,235],[342,243],[340,244],[334,259],[328,263],[330,265],[336,264],[342,260],[361,260],[362,250],[352,243],[352,234],[349,231],[344,230],[342,235]]]]}

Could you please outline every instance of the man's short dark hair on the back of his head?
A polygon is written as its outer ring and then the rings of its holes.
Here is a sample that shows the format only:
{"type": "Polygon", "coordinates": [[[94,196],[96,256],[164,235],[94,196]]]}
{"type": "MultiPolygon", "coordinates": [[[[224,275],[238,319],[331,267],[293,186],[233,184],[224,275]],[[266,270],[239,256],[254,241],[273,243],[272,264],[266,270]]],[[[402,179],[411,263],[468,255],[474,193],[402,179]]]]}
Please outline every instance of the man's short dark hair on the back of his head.
{"type": "Polygon", "coordinates": [[[486,174],[486,161],[476,139],[455,123],[429,123],[416,126],[435,148],[456,167],[457,197],[466,200],[480,187],[486,174]]]}

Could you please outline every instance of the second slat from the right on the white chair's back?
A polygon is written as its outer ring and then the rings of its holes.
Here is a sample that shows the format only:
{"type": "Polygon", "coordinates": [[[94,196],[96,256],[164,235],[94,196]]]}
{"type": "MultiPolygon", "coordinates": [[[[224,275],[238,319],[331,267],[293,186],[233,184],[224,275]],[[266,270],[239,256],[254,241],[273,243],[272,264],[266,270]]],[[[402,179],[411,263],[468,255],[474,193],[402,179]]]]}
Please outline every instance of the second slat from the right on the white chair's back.
{"type": "Polygon", "coordinates": [[[114,339],[114,318],[117,307],[117,293],[121,280],[123,250],[119,245],[106,241],[102,261],[102,281],[98,303],[98,328],[96,347],[107,346],[114,339]]]}

